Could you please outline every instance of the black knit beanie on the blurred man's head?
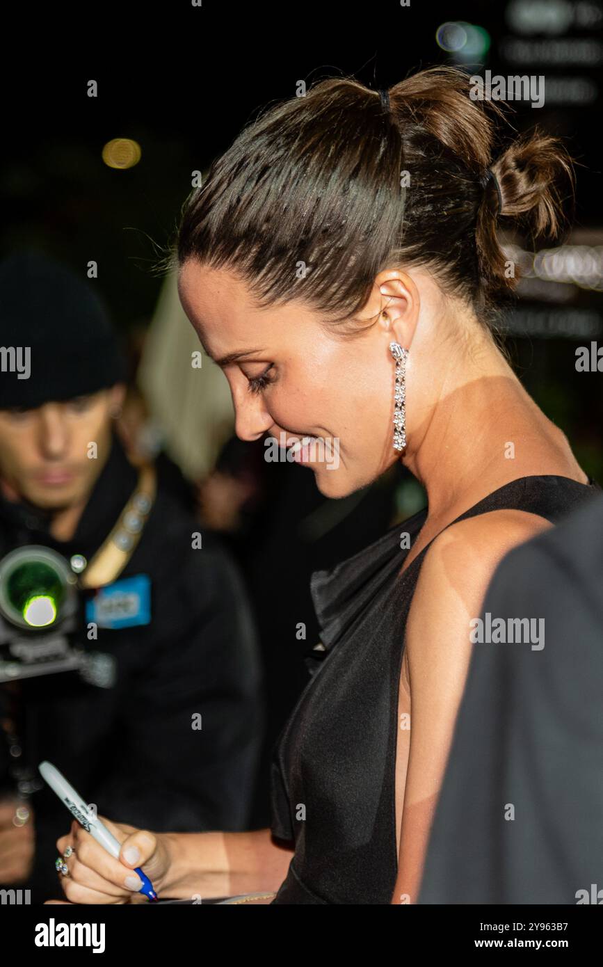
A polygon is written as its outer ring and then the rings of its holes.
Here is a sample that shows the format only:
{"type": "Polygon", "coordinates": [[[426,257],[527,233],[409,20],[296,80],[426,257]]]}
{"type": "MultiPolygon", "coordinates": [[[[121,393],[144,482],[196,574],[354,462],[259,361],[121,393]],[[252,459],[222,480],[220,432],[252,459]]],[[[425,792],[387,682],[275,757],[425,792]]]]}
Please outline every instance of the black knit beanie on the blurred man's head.
{"type": "Polygon", "coordinates": [[[0,262],[0,409],[86,396],[125,379],[95,284],[31,249],[0,262]]]}

